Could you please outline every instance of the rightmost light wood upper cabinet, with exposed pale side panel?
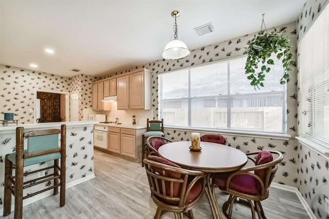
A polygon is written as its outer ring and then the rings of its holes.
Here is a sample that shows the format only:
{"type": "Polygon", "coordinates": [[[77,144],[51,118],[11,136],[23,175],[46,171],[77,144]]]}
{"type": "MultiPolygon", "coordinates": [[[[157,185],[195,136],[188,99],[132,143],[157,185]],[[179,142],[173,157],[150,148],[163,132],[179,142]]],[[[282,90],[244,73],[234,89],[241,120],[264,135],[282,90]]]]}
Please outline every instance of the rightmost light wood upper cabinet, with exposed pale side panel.
{"type": "Polygon", "coordinates": [[[129,109],[151,109],[151,71],[143,69],[129,75],[129,109]]]}

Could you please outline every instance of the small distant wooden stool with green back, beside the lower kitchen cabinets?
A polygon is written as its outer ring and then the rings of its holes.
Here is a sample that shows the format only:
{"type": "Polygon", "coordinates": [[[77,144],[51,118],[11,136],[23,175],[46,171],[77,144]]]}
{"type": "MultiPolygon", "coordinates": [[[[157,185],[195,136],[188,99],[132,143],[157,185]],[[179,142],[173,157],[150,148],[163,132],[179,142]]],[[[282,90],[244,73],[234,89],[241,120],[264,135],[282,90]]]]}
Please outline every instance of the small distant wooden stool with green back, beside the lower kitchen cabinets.
{"type": "Polygon", "coordinates": [[[163,134],[163,118],[161,121],[158,120],[147,120],[147,129],[146,132],[142,135],[142,167],[144,166],[143,160],[144,157],[148,157],[148,147],[145,143],[145,138],[151,137],[151,136],[162,136],[164,137],[165,134],[163,134]],[[146,156],[144,156],[146,154],[146,156]]]}

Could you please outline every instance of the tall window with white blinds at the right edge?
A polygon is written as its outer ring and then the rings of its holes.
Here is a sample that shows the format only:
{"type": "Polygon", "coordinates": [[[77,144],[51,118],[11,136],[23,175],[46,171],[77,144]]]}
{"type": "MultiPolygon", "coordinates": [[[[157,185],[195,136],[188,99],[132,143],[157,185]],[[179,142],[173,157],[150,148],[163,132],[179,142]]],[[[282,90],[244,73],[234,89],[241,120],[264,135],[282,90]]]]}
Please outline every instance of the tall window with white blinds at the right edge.
{"type": "Polygon", "coordinates": [[[329,148],[329,8],[300,42],[299,135],[329,148]]]}

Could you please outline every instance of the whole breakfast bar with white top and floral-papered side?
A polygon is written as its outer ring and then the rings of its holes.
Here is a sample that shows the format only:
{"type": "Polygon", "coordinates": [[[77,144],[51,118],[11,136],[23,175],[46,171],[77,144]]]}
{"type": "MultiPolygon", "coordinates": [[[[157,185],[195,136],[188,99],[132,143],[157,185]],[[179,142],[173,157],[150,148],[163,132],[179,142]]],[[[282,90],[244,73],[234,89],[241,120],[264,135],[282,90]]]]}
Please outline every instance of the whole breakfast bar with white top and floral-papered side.
{"type": "MultiPolygon", "coordinates": [[[[36,123],[36,124],[18,124],[17,126],[0,126],[0,182],[4,182],[5,156],[15,150],[15,131],[16,127],[24,127],[25,131],[42,129],[60,129],[62,124],[66,124],[66,188],[80,184],[95,177],[94,174],[94,141],[93,126],[95,121],[81,122],[59,122],[59,123],[36,123]]],[[[26,140],[25,140],[26,141],[26,140]]],[[[26,143],[24,143],[24,149],[26,143]]],[[[44,167],[51,166],[51,162],[36,164],[44,167]]],[[[30,172],[36,168],[35,165],[28,166],[24,171],[30,172]]],[[[49,170],[50,173],[50,170],[49,170]]],[[[42,176],[48,172],[41,171],[38,175],[42,176]]],[[[53,182],[48,181],[35,187],[29,188],[26,192],[47,187],[53,182]]],[[[38,201],[52,194],[52,191],[43,192],[24,200],[23,205],[38,201]],[[26,202],[25,202],[26,201],[26,202]]],[[[0,201],[4,200],[4,187],[0,186],[0,201]]],[[[2,202],[1,202],[2,203],[2,202]]],[[[2,215],[3,205],[0,204],[0,214],[2,215]]]]}

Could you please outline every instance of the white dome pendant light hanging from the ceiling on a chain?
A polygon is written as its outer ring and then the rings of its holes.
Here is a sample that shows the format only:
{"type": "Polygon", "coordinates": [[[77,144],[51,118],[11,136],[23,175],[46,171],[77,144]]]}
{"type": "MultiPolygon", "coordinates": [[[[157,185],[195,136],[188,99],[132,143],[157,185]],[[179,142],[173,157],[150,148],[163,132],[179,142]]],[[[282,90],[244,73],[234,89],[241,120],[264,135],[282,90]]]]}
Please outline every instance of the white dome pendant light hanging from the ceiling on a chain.
{"type": "Polygon", "coordinates": [[[170,41],[162,53],[162,57],[168,60],[177,60],[186,58],[190,55],[185,43],[178,40],[176,18],[180,15],[179,11],[172,11],[171,16],[175,18],[174,39],[170,41]]]}

